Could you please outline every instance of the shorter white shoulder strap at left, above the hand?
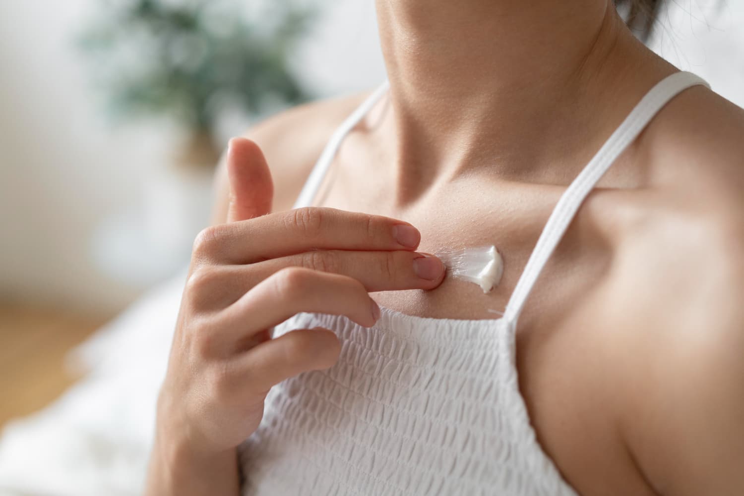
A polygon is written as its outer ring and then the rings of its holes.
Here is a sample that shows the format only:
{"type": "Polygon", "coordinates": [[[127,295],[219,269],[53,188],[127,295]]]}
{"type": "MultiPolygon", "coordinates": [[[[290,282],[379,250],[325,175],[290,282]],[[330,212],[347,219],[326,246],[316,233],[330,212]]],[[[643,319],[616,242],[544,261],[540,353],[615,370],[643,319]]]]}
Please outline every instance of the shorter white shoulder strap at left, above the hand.
{"type": "Polygon", "coordinates": [[[315,166],[312,167],[310,175],[307,176],[307,181],[295,201],[294,208],[309,207],[310,204],[312,204],[312,200],[315,198],[315,195],[318,194],[318,189],[321,187],[323,179],[328,172],[328,168],[333,162],[333,158],[335,158],[336,153],[339,152],[339,148],[341,148],[344,138],[346,138],[346,136],[363,118],[365,118],[365,115],[372,110],[375,103],[379,102],[383,95],[387,93],[389,87],[390,83],[385,80],[385,83],[382,83],[382,85],[379,86],[379,88],[377,88],[367,98],[367,100],[365,100],[364,103],[353,112],[352,115],[347,117],[347,119],[341,123],[339,129],[336,129],[336,132],[333,133],[330,141],[328,141],[328,144],[323,149],[320,158],[315,162],[315,166]]]}

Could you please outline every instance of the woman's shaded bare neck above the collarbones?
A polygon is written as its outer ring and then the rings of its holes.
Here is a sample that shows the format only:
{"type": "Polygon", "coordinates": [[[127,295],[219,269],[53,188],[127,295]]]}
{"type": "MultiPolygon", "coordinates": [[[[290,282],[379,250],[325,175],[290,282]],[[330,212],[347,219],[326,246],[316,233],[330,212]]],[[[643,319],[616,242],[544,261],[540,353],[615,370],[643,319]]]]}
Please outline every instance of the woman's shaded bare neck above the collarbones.
{"type": "Polygon", "coordinates": [[[578,170],[557,162],[606,139],[658,77],[641,70],[650,51],[609,0],[378,0],[377,10],[399,203],[474,167],[567,184],[578,170]]]}

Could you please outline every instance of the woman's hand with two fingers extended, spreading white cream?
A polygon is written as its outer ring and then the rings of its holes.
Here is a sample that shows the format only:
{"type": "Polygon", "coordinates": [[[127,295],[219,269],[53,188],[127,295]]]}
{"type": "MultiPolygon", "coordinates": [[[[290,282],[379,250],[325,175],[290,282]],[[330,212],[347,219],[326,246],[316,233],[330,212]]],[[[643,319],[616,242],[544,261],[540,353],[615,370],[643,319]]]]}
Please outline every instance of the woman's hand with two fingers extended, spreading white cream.
{"type": "Polygon", "coordinates": [[[260,149],[228,151],[228,223],[196,239],[190,275],[158,401],[152,495],[237,494],[235,448],[258,427],[269,389],[333,366],[341,350],[327,329],[272,339],[298,312],[345,315],[372,326],[368,292],[433,289],[440,260],[414,250],[405,222],[327,208],[269,213],[272,178],[260,149]]]}

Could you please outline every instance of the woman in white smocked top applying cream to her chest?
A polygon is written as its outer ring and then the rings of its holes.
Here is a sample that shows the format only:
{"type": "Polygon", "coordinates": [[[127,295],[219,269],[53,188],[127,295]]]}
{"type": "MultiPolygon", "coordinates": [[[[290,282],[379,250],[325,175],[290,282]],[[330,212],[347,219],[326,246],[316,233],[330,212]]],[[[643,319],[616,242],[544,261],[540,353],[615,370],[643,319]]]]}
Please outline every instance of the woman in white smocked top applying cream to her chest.
{"type": "Polygon", "coordinates": [[[149,494],[743,494],[744,112],[608,0],[377,10],[390,88],[312,207],[363,98],[231,142],[149,494]],[[430,255],[491,244],[488,294],[430,255]]]}

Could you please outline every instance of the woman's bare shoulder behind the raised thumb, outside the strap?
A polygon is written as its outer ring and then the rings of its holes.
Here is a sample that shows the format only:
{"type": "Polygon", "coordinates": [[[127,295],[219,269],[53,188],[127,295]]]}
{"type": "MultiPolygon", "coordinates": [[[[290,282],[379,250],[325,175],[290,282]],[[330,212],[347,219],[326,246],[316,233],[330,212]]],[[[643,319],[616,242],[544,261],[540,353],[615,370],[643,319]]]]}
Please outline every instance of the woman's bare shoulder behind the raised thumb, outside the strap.
{"type": "MultiPolygon", "coordinates": [[[[260,146],[272,171],[274,210],[292,207],[330,135],[365,97],[367,94],[353,94],[307,103],[269,117],[244,133],[260,146]]],[[[214,219],[220,222],[228,191],[224,164],[217,169],[215,190],[214,219]]]]}

